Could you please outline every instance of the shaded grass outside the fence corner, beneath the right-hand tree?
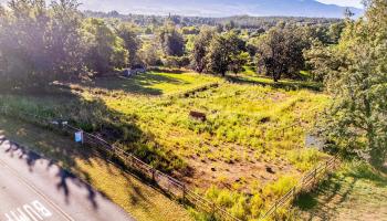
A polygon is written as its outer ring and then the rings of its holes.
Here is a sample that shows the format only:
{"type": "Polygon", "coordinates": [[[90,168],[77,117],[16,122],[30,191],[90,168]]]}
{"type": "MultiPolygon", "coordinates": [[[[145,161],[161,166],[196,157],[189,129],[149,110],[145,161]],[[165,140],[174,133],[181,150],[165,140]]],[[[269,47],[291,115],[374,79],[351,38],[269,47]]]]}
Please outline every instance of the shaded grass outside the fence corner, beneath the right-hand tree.
{"type": "Polygon", "coordinates": [[[343,167],[295,202],[302,220],[387,220],[387,173],[365,162],[343,167]]]}

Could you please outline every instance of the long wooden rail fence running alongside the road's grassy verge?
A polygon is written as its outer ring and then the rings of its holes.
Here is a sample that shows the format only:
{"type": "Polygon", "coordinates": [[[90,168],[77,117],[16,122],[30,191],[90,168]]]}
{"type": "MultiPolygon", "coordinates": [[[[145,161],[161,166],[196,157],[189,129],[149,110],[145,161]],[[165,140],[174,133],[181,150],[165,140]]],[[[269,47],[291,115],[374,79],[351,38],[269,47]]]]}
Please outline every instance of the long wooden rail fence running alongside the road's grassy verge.
{"type": "MultiPolygon", "coordinates": [[[[59,129],[66,134],[83,131],[81,128],[74,127],[66,122],[59,122],[51,118],[29,114],[22,110],[20,110],[22,114],[10,113],[7,108],[0,108],[0,112],[4,115],[38,123],[42,126],[54,127],[55,129],[59,129]]],[[[150,165],[135,157],[133,154],[129,154],[119,147],[108,144],[106,140],[98,136],[83,131],[83,144],[115,156],[128,169],[139,172],[142,176],[157,185],[157,187],[163,191],[170,194],[171,197],[175,197],[185,204],[194,206],[198,210],[213,215],[213,218],[217,220],[240,221],[238,218],[233,217],[224,209],[216,206],[200,194],[188,189],[184,182],[155,169],[150,165]]]]}

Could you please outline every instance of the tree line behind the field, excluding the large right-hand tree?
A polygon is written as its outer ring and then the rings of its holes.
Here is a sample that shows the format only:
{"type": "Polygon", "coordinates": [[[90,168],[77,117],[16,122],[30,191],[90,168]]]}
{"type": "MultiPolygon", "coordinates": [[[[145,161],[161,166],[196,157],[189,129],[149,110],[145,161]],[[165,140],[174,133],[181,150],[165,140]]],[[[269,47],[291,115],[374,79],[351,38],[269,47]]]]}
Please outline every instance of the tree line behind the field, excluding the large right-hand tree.
{"type": "Polygon", "coordinates": [[[304,69],[303,50],[310,48],[312,39],[335,42],[341,32],[341,23],[327,28],[279,22],[260,34],[232,22],[181,28],[175,17],[163,24],[155,21],[157,27],[142,28],[117,19],[85,17],[79,6],[76,0],[50,4],[11,0],[7,8],[0,8],[3,81],[46,83],[146,65],[226,76],[228,72],[238,74],[248,64],[279,81],[304,69]]]}

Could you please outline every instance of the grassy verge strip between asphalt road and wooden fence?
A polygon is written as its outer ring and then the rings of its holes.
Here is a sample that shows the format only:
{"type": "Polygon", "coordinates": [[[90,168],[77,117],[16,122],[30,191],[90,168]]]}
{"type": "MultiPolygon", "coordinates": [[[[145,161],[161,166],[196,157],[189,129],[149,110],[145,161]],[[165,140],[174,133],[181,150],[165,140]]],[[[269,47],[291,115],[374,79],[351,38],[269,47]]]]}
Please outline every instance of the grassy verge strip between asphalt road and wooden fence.
{"type": "Polygon", "coordinates": [[[137,220],[191,220],[188,212],[136,177],[67,138],[20,120],[0,117],[0,135],[29,147],[87,180],[137,220]]]}

